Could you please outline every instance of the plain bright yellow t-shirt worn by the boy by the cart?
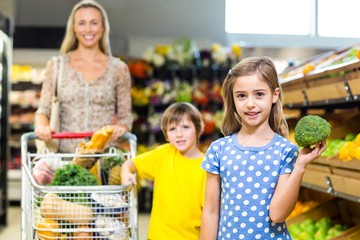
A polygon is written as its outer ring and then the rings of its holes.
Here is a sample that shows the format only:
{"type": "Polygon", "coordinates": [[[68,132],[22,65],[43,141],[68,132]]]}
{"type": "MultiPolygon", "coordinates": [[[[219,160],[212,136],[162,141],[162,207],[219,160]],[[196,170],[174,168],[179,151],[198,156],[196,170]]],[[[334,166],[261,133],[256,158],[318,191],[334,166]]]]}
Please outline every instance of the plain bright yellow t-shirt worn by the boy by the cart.
{"type": "Polygon", "coordinates": [[[171,144],[134,158],[140,178],[154,181],[148,239],[199,239],[206,172],[171,144]]]}

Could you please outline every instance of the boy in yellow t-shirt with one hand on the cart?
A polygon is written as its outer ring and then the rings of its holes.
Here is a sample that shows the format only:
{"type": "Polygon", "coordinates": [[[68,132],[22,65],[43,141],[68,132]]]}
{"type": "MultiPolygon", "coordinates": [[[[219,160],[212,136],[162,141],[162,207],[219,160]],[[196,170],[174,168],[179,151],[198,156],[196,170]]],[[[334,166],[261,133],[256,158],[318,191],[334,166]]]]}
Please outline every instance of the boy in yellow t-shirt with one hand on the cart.
{"type": "Polygon", "coordinates": [[[161,129],[169,143],[127,160],[121,180],[136,183],[137,172],[154,181],[148,239],[198,240],[206,176],[198,148],[201,114],[190,103],[174,103],[164,112],[161,129]]]}

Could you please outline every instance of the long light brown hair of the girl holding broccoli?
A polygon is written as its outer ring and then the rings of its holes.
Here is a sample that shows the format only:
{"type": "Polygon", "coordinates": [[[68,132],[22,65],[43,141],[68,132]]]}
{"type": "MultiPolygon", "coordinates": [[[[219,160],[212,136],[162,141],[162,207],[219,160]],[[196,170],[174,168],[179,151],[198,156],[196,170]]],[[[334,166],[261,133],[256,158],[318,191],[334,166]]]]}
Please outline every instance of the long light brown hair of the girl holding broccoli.
{"type": "Polygon", "coordinates": [[[285,120],[282,107],[282,91],[274,63],[268,57],[249,57],[237,63],[225,77],[222,85],[224,99],[224,119],[221,123],[221,132],[231,135],[242,127],[242,119],[236,112],[233,88],[238,77],[257,74],[261,81],[268,84],[273,93],[279,88],[279,99],[272,105],[269,125],[271,129],[283,137],[289,136],[289,128],[285,120]]]}

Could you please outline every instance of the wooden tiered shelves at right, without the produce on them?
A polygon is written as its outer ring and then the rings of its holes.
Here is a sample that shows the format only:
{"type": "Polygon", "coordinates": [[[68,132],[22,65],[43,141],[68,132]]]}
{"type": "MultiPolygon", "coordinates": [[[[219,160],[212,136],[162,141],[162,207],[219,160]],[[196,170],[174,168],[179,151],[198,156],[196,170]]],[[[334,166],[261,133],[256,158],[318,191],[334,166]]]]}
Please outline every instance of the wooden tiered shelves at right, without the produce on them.
{"type": "MultiPolygon", "coordinates": [[[[329,52],[320,58],[326,62],[326,58],[332,54],[333,52],[329,52]]],[[[321,61],[320,58],[318,60],[321,61]]],[[[294,71],[298,74],[279,79],[284,91],[284,109],[290,112],[296,110],[300,112],[300,116],[307,114],[308,110],[324,110],[324,114],[328,114],[326,116],[330,119],[333,115],[329,113],[334,113],[334,110],[346,110],[342,112],[351,114],[352,117],[345,120],[342,116],[341,119],[344,120],[336,121],[334,136],[341,136],[349,131],[358,132],[360,60],[356,58],[336,65],[330,63],[320,66],[306,74],[294,71]]],[[[337,157],[326,161],[316,160],[306,167],[301,185],[359,203],[360,161],[343,162],[337,157]]]]}

